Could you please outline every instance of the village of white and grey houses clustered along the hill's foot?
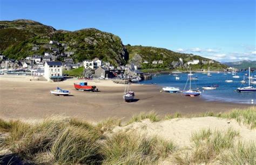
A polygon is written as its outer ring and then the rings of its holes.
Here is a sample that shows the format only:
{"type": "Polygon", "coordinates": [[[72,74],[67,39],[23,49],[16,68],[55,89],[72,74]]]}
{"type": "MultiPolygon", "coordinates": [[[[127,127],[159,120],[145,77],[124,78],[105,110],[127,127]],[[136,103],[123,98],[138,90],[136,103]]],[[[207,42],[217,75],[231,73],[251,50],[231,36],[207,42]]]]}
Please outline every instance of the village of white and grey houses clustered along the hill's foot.
{"type": "MultiPolygon", "coordinates": [[[[83,68],[83,77],[85,78],[120,78],[124,79],[125,75],[139,80],[150,79],[150,74],[144,74],[140,71],[140,66],[134,63],[126,64],[125,66],[114,67],[110,62],[101,59],[88,59],[81,62],[75,62],[72,59],[74,52],[64,51],[66,45],[58,41],[50,40],[48,45],[49,52],[44,52],[43,55],[34,54],[26,56],[21,60],[8,59],[4,54],[0,54],[0,74],[23,74],[44,77],[46,81],[62,81],[64,80],[65,71],[72,69],[83,68]],[[62,51],[60,51],[62,50],[62,51]]],[[[38,46],[33,46],[31,51],[37,51],[38,46]]],[[[163,64],[163,60],[143,61],[143,64],[152,63],[153,66],[163,64]]],[[[184,62],[182,58],[179,61],[172,62],[172,68],[175,69],[180,65],[190,66],[196,64],[211,64],[213,60],[190,60],[184,62]]],[[[228,68],[232,69],[232,68],[228,68]]],[[[201,70],[204,71],[204,70],[201,70]]]]}

